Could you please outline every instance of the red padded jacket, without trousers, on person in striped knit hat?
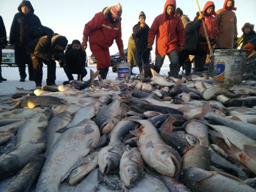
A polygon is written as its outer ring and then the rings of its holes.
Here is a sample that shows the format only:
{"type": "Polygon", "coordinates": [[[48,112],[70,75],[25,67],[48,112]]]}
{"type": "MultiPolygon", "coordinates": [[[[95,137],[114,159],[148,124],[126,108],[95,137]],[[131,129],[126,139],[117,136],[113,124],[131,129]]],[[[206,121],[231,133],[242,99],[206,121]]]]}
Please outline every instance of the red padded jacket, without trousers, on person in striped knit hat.
{"type": "Polygon", "coordinates": [[[122,41],[122,30],[121,30],[121,21],[118,24],[111,24],[108,19],[108,7],[104,12],[96,13],[92,20],[84,26],[84,36],[89,36],[89,42],[92,44],[99,45],[100,47],[106,49],[109,48],[114,40],[118,49],[124,47],[122,41]]]}

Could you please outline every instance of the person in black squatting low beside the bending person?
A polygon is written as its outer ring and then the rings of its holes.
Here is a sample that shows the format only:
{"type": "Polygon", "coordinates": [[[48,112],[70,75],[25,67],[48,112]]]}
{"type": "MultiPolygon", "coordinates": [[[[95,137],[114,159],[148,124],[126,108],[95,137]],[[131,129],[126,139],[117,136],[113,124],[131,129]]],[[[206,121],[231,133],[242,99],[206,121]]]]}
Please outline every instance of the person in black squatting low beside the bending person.
{"type": "Polygon", "coordinates": [[[82,50],[79,40],[73,40],[72,44],[68,45],[65,52],[65,61],[63,68],[68,81],[74,80],[72,74],[77,74],[77,80],[83,81],[83,77],[87,75],[87,70],[84,68],[86,52],[82,50]]]}

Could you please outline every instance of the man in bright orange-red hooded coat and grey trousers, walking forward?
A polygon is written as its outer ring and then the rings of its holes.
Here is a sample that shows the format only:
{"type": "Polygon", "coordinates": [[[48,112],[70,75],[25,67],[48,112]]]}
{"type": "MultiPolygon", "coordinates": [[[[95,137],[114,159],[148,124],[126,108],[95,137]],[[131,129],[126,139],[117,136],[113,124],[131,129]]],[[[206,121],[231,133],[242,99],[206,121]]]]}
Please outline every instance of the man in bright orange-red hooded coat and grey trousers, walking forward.
{"type": "Polygon", "coordinates": [[[164,57],[168,55],[170,76],[178,77],[179,57],[178,50],[182,50],[185,41],[185,32],[182,20],[176,14],[176,1],[166,0],[164,12],[154,20],[148,32],[148,49],[152,49],[156,37],[156,65],[154,70],[160,72],[164,57]]]}

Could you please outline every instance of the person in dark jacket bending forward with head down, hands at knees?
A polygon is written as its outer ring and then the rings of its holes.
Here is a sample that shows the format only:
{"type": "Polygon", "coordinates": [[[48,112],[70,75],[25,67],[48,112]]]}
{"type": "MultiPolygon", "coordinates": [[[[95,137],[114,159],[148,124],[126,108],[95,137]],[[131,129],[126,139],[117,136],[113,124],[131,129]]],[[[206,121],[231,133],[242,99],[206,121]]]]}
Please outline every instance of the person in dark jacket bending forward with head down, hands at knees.
{"type": "Polygon", "coordinates": [[[36,87],[42,86],[43,79],[43,63],[47,65],[46,84],[49,86],[56,85],[56,62],[60,65],[65,63],[64,50],[66,49],[68,40],[65,36],[50,35],[42,36],[36,45],[34,55],[31,56],[34,68],[34,79],[36,87]]]}

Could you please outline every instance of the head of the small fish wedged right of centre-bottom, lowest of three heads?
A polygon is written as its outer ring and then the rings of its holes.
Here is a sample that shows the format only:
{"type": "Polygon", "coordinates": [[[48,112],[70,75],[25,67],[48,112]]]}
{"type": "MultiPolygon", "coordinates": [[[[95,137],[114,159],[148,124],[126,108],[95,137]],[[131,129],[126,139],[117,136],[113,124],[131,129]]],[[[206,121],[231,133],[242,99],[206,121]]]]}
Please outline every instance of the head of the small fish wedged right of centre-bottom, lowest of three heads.
{"type": "Polygon", "coordinates": [[[143,177],[143,172],[134,163],[124,164],[120,170],[120,179],[125,187],[133,186],[141,177],[143,177]]]}

